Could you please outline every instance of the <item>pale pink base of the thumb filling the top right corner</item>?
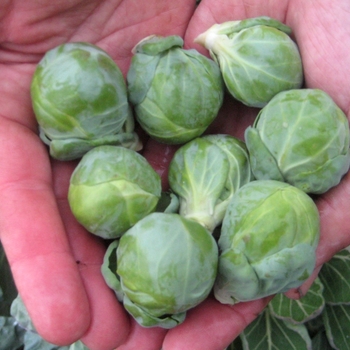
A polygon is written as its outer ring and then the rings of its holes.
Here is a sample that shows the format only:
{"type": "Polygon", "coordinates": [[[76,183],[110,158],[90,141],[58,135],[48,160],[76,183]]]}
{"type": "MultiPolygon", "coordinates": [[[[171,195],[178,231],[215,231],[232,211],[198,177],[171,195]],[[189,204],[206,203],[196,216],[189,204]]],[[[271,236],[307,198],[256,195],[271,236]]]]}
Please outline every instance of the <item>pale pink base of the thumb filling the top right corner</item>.
{"type": "Polygon", "coordinates": [[[329,6],[327,0],[317,4],[291,1],[288,11],[303,60],[306,85],[326,91],[344,112],[350,109],[350,82],[344,74],[350,64],[349,11],[348,1],[329,6]]]}

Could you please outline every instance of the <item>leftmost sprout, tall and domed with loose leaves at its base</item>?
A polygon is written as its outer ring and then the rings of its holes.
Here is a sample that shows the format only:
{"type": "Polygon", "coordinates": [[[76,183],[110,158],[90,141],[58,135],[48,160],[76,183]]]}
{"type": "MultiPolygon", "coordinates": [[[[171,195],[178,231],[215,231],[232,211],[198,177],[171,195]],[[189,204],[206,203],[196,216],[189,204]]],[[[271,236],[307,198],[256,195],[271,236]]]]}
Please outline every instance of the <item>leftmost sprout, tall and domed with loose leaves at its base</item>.
{"type": "Polygon", "coordinates": [[[40,137],[54,158],[80,158],[105,144],[140,149],[124,77],[92,44],[48,51],[34,72],[31,97],[40,137]]]}

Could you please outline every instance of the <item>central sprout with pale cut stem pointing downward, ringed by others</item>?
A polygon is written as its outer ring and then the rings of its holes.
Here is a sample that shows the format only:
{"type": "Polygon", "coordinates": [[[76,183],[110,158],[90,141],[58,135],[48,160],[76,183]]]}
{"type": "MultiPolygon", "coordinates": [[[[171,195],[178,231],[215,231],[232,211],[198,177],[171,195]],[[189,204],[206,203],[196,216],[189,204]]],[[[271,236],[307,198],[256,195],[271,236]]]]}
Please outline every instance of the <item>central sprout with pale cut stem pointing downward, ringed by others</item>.
{"type": "Polygon", "coordinates": [[[251,181],[252,173],[243,141],[207,135],[175,152],[168,177],[170,188],[179,196],[180,215],[213,232],[233,194],[251,181]]]}

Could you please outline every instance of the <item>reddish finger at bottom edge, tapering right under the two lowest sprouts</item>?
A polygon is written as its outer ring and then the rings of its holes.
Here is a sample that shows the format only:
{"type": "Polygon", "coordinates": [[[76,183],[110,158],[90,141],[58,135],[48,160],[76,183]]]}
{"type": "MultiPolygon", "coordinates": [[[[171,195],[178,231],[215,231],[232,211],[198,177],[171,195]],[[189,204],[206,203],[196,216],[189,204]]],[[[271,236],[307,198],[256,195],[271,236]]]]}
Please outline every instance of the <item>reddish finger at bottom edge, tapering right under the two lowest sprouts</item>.
{"type": "Polygon", "coordinates": [[[167,333],[163,350],[225,349],[259,315],[268,301],[269,298],[265,298],[228,306],[208,298],[188,311],[183,324],[167,333]]]}

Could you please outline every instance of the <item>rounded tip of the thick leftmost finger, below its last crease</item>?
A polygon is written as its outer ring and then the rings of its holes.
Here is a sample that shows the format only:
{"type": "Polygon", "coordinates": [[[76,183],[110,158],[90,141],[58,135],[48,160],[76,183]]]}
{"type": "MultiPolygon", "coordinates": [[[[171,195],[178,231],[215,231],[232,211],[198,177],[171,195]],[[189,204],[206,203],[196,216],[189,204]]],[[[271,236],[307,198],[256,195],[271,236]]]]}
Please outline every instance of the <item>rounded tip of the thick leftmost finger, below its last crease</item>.
{"type": "Polygon", "coordinates": [[[90,325],[89,301],[75,265],[73,259],[53,254],[12,267],[36,331],[55,345],[74,343],[90,325]]]}

